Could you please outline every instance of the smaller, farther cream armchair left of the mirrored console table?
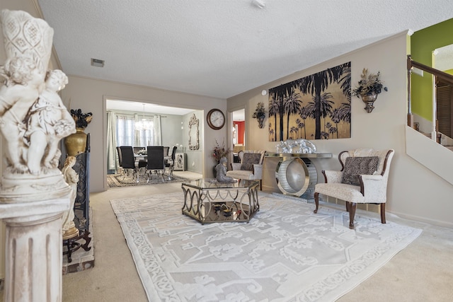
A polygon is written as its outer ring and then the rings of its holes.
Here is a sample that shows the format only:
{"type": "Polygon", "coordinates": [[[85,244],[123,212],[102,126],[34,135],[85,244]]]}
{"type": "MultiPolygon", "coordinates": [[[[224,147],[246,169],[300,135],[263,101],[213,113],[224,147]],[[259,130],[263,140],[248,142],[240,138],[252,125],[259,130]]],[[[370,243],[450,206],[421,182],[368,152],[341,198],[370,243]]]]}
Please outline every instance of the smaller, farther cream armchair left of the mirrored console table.
{"type": "Polygon", "coordinates": [[[259,180],[260,190],[263,189],[263,161],[266,151],[245,150],[239,151],[241,163],[231,163],[231,170],[226,176],[241,180],[259,180]]]}

